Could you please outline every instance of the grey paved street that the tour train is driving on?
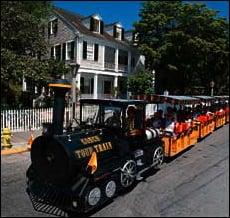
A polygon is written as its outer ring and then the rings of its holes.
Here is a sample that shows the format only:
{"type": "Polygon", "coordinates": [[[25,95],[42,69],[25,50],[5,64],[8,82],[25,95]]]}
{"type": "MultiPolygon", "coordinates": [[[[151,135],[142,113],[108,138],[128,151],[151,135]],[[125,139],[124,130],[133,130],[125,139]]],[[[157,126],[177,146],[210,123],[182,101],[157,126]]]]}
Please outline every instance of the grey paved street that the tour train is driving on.
{"type": "MultiPolygon", "coordinates": [[[[33,210],[25,193],[29,153],[2,156],[1,215],[47,216],[33,210]]],[[[229,125],[177,157],[94,217],[228,217],[229,125]]]]}

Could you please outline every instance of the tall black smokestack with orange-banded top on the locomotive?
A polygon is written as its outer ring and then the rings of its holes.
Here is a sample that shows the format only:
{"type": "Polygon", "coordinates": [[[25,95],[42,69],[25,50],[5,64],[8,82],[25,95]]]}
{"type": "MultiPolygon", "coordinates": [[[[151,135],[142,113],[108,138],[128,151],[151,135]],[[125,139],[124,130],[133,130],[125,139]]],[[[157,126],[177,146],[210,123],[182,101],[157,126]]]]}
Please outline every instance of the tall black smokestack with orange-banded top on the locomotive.
{"type": "Polygon", "coordinates": [[[71,85],[66,79],[58,79],[49,84],[49,87],[54,91],[54,106],[53,106],[53,134],[63,134],[63,121],[65,111],[65,94],[71,89],[71,85]]]}

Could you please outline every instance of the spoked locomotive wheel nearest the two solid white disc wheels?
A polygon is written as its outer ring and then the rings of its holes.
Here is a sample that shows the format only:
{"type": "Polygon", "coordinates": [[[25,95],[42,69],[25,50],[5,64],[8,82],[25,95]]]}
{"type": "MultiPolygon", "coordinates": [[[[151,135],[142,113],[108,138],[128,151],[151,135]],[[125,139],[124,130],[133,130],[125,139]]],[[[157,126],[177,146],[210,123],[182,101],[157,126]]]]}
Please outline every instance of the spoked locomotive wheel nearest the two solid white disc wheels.
{"type": "Polygon", "coordinates": [[[137,172],[136,162],[127,160],[121,169],[120,182],[124,188],[130,187],[135,180],[137,172]]]}

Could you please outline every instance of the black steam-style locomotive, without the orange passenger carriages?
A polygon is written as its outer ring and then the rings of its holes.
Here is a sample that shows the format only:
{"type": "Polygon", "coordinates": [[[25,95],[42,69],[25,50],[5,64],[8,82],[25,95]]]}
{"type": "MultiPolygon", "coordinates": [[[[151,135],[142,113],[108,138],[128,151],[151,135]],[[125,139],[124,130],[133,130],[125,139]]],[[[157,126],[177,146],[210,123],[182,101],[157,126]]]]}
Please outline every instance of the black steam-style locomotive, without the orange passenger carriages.
{"type": "Polygon", "coordinates": [[[78,125],[64,131],[66,80],[54,90],[53,121],[31,146],[27,193],[37,211],[87,213],[163,163],[157,129],[145,127],[142,100],[81,99],[78,125]],[[88,113],[86,113],[88,111],[88,113]]]}

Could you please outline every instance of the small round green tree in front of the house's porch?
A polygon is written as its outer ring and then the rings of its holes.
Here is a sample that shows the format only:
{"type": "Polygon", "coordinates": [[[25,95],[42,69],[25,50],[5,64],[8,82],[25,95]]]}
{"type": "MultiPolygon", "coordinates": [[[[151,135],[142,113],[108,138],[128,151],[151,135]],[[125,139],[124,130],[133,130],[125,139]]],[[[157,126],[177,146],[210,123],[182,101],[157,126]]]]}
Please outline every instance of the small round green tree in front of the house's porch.
{"type": "Polygon", "coordinates": [[[153,94],[153,77],[148,70],[141,69],[128,77],[128,91],[132,95],[153,94]]]}

